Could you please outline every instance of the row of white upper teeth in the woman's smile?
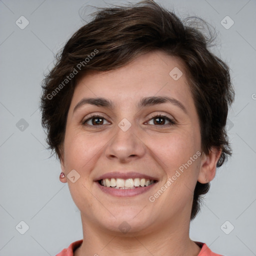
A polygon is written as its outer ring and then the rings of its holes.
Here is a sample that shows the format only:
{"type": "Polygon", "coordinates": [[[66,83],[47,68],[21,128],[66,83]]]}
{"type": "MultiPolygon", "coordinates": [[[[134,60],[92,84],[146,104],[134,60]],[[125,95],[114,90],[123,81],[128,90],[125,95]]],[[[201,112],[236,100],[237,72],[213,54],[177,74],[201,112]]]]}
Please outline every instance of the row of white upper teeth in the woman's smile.
{"type": "Polygon", "coordinates": [[[102,186],[111,186],[114,188],[131,189],[136,186],[148,186],[155,181],[148,178],[103,178],[100,181],[102,186]]]}

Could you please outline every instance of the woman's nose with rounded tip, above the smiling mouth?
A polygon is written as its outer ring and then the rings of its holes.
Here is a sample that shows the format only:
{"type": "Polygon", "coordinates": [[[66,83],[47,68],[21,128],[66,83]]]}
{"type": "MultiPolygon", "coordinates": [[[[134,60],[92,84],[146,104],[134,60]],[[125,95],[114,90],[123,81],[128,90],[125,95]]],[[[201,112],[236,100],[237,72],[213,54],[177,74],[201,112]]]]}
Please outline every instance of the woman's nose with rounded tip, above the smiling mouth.
{"type": "Polygon", "coordinates": [[[146,146],[133,124],[126,131],[116,125],[116,133],[106,146],[105,156],[124,163],[141,158],[145,151],[146,146]]]}

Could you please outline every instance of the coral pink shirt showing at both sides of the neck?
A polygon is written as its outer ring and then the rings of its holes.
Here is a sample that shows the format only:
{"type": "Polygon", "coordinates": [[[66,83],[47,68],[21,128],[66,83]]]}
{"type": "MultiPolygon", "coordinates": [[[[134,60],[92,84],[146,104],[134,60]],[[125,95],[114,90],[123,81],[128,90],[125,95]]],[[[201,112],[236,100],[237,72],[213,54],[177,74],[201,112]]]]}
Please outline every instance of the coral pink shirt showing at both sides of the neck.
{"type": "MultiPolygon", "coordinates": [[[[82,243],[82,239],[72,242],[68,248],[61,250],[58,254],[56,254],[55,256],[73,256],[73,252],[74,250],[79,247],[82,243]]],[[[199,254],[197,256],[223,256],[217,253],[212,252],[208,246],[206,245],[206,243],[202,243],[202,242],[197,242],[195,241],[195,243],[201,248],[199,254]]]]}

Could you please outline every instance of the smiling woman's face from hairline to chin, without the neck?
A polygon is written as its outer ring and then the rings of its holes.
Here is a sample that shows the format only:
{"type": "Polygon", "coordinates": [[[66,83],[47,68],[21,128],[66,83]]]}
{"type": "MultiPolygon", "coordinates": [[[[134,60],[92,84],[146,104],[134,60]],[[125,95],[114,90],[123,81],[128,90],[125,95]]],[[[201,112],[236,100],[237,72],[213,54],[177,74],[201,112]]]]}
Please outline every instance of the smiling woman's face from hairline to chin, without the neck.
{"type": "Polygon", "coordinates": [[[118,232],[189,222],[202,179],[200,142],[178,58],[154,51],[117,70],[84,76],[68,111],[61,162],[82,221],[118,232]],[[104,100],[85,100],[99,97],[104,100]],[[112,187],[116,183],[120,188],[112,187]]]}

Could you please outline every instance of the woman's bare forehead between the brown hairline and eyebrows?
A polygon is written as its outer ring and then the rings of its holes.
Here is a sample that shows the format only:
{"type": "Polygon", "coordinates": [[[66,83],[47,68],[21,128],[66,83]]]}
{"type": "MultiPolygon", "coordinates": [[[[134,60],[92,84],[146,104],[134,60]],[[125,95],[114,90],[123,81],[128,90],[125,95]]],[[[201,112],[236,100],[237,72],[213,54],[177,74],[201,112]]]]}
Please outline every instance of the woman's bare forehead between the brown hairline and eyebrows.
{"type": "Polygon", "coordinates": [[[71,104],[84,96],[106,97],[123,104],[157,95],[191,100],[182,61],[162,51],[140,55],[118,69],[88,72],[77,82],[71,104]]]}

